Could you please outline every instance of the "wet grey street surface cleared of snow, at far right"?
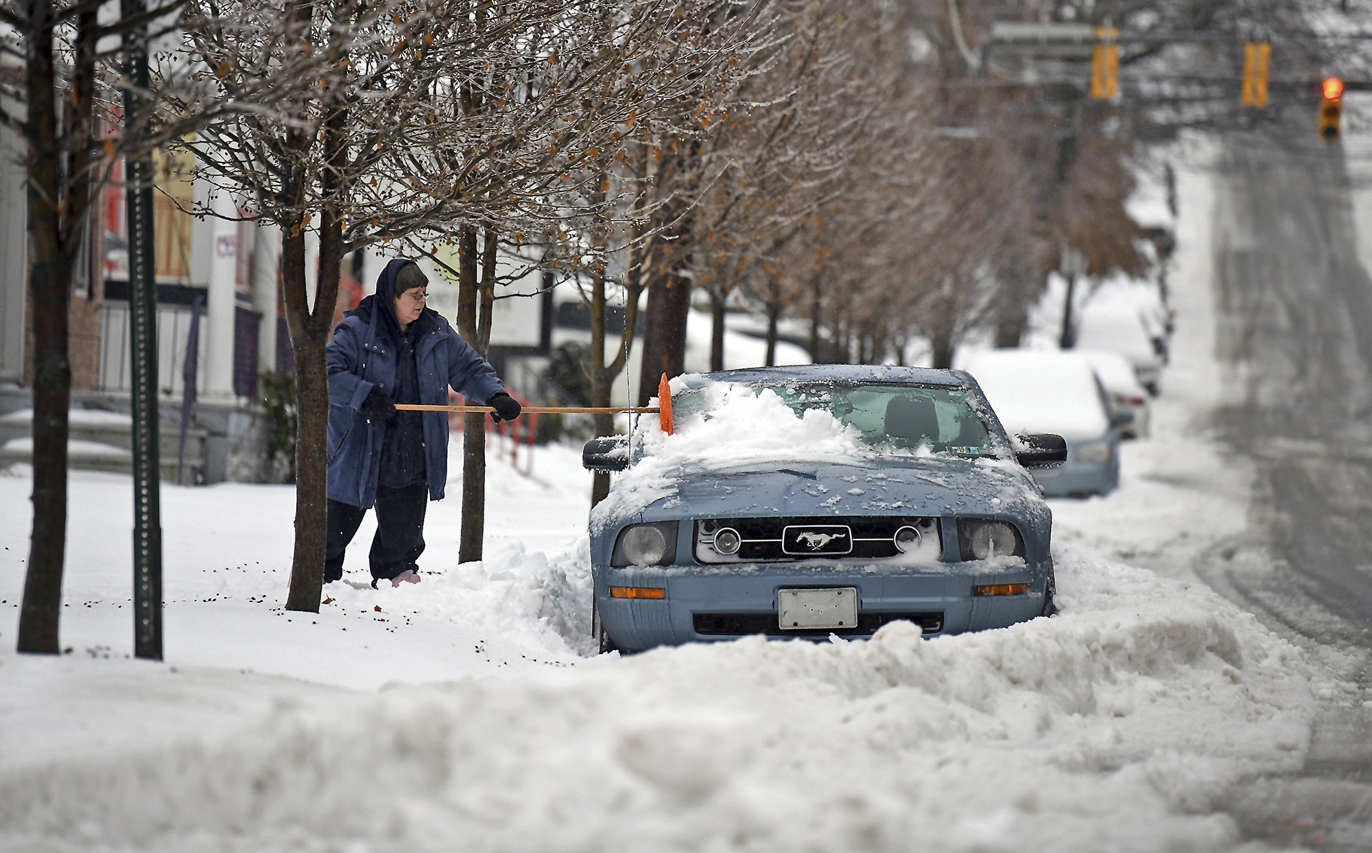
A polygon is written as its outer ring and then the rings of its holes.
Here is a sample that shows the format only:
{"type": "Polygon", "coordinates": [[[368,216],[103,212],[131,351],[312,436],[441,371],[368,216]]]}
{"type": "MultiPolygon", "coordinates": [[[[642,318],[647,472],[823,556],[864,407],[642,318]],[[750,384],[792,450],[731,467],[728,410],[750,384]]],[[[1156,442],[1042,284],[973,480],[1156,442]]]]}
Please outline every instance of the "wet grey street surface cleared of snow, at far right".
{"type": "MultiPolygon", "coordinates": [[[[1314,645],[1372,698],[1372,278],[1343,152],[1308,128],[1232,140],[1216,163],[1218,433],[1253,468],[1249,529],[1196,573],[1314,645]]],[[[1246,831],[1372,849],[1372,704],[1331,704],[1305,773],[1233,794],[1246,831]]]]}

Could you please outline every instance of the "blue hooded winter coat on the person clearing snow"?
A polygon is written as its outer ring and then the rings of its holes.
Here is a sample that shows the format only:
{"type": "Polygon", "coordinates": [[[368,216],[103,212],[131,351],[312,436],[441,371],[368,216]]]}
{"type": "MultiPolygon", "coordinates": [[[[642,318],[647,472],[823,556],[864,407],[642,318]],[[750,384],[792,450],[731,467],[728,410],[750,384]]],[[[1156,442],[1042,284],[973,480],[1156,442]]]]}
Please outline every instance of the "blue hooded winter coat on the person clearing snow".
{"type": "MultiPolygon", "coordinates": [[[[381,315],[395,299],[395,274],[413,261],[391,261],[376,283],[376,296],[343,315],[328,346],[329,368],[329,499],[361,509],[376,502],[386,422],[373,418],[362,402],[375,385],[391,392],[395,387],[395,350],[381,315]]],[[[428,307],[423,322],[428,331],[414,344],[418,368],[420,403],[446,406],[449,385],[482,405],[505,391],[495,370],[428,307]]],[[[394,311],[390,314],[394,318],[394,311]]],[[[394,320],[392,320],[394,322],[394,320]]],[[[442,501],[447,484],[447,413],[425,411],[424,461],[428,468],[429,499],[442,501]]]]}

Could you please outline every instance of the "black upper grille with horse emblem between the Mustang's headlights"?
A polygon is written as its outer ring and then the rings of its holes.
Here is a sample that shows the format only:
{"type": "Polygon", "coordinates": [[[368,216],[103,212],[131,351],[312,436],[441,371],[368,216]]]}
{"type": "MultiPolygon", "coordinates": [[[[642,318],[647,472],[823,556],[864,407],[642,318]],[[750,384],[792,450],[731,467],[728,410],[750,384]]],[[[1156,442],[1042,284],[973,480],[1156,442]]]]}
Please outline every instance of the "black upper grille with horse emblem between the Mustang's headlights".
{"type": "Polygon", "coordinates": [[[919,532],[918,553],[938,560],[943,533],[938,520],[904,516],[764,516],[759,518],[704,518],[696,522],[696,560],[700,562],[768,562],[782,560],[896,557],[896,531],[919,532]],[[730,528],[740,538],[734,554],[715,550],[715,533],[730,528]]]}

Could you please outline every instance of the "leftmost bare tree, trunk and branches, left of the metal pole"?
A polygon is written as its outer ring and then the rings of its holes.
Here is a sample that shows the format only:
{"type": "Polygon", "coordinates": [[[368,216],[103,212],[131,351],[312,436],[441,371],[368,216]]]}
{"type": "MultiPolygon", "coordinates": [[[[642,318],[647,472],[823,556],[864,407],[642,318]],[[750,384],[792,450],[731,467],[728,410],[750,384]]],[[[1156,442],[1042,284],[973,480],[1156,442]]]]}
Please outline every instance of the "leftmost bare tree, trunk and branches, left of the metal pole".
{"type": "MultiPolygon", "coordinates": [[[[33,536],[19,612],[19,651],[55,654],[62,612],[71,394],[69,310],[77,259],[91,241],[91,213],[110,166],[141,158],[226,107],[204,104],[177,122],[125,110],[147,100],[123,60],[187,26],[181,0],[134,4],[122,18],[102,0],[0,3],[0,121],[25,140],[29,306],[33,331],[33,536]],[[19,60],[12,63],[8,60],[19,60]],[[18,70],[22,69],[22,70],[18,70]]],[[[187,80],[169,69],[166,88],[187,80]]]]}

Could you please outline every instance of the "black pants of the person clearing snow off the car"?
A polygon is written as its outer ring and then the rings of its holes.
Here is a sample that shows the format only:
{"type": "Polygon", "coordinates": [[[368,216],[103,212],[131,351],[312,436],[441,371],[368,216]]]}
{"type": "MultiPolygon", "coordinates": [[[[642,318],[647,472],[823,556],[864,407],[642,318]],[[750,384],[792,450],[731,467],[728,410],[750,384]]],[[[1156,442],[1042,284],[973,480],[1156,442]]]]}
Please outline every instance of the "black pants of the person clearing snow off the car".
{"type": "MultiPolygon", "coordinates": [[[[406,569],[416,569],[414,561],[424,553],[424,510],[428,505],[428,484],[417,483],[405,488],[376,487],[376,536],[372,538],[372,577],[390,580],[406,569]]],[[[324,583],[343,577],[343,553],[366,516],[365,509],[329,501],[329,542],[324,557],[324,583]]]]}

